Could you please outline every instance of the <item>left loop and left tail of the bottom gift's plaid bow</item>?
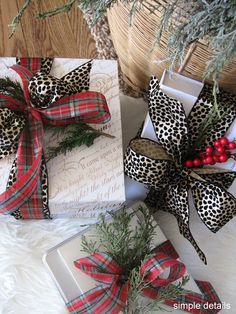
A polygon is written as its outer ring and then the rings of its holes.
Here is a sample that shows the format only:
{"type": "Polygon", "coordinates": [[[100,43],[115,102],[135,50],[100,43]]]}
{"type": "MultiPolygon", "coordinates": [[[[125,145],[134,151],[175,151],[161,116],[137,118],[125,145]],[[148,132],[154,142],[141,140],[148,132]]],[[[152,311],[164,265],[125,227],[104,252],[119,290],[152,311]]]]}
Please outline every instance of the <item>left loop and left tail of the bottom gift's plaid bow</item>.
{"type": "Polygon", "coordinates": [[[94,253],[75,261],[75,266],[101,285],[67,304],[72,314],[118,314],[128,298],[129,282],[121,283],[122,269],[106,253],[94,253]]]}

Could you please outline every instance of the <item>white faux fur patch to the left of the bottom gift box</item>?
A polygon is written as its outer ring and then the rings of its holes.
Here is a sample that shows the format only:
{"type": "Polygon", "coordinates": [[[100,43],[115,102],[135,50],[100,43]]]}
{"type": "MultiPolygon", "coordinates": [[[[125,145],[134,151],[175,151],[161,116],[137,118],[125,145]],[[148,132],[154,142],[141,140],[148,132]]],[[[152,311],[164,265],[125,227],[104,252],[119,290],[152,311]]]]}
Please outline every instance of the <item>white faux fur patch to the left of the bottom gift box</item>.
{"type": "Polygon", "coordinates": [[[0,313],[65,314],[65,306],[43,265],[51,247],[80,231],[74,219],[0,219],[0,313]]]}

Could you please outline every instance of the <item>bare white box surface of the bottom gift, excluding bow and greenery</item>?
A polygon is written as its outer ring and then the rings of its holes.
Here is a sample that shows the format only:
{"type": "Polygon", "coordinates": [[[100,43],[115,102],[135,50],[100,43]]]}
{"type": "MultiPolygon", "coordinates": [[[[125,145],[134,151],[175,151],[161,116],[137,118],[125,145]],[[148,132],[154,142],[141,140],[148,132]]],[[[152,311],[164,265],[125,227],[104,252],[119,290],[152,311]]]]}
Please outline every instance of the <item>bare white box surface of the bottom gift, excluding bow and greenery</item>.
{"type": "MultiPolygon", "coordinates": [[[[143,207],[145,206],[143,203],[138,202],[129,210],[137,210],[140,205],[143,207]]],[[[142,221],[143,218],[140,214],[137,212],[137,215],[133,217],[131,221],[132,229],[137,226],[138,220],[142,221]]],[[[156,224],[154,220],[153,223],[156,224]]],[[[153,247],[156,247],[167,240],[159,226],[156,226],[155,231],[156,234],[153,238],[153,247]]],[[[79,295],[96,286],[96,282],[91,277],[87,276],[74,266],[74,261],[88,256],[87,253],[81,251],[82,235],[85,235],[89,239],[89,236],[93,236],[95,234],[94,232],[94,227],[89,227],[74,237],[52,248],[43,257],[44,264],[48,268],[65,303],[78,298],[79,295]]],[[[96,238],[96,240],[98,239],[96,238]]],[[[186,272],[185,275],[188,275],[190,280],[187,282],[184,288],[201,294],[197,284],[189,275],[189,273],[186,272]]],[[[171,310],[169,306],[162,305],[162,307],[167,311],[171,310]]],[[[158,313],[162,313],[162,311],[159,310],[158,313]]],[[[175,310],[175,313],[184,312],[181,310],[175,310]]]]}

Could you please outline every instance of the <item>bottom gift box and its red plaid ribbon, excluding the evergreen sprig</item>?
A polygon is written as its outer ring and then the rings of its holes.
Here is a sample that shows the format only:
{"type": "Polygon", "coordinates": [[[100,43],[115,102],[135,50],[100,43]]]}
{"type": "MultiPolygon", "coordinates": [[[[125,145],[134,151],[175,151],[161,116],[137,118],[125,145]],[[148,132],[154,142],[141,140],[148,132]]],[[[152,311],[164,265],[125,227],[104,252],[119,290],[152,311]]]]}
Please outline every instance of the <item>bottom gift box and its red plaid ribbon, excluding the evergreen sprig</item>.
{"type": "MultiPolygon", "coordinates": [[[[141,210],[143,208],[146,208],[144,203],[138,202],[132,208],[126,209],[128,213],[135,213],[129,221],[131,230],[139,228],[139,223],[146,222],[141,210]]],[[[195,281],[188,274],[185,265],[180,261],[177,252],[171,242],[166,239],[161,228],[154,220],[151,223],[155,228],[151,241],[153,254],[144,259],[140,267],[140,276],[145,274],[144,280],[148,285],[145,284],[144,291],[140,293],[140,303],[137,303],[139,309],[133,309],[135,313],[144,313],[151,299],[159,298],[160,300],[160,289],[165,289],[168,285],[177,285],[186,276],[189,277],[189,281],[183,286],[184,294],[174,299],[163,300],[162,298],[158,304],[160,307],[154,307],[152,312],[158,312],[159,308],[159,312],[162,313],[173,307],[175,313],[184,311],[196,314],[218,313],[221,309],[221,302],[211,284],[206,281],[195,281]]],[[[130,278],[122,275],[125,270],[121,269],[109,253],[103,251],[102,245],[98,252],[88,256],[83,251],[83,236],[88,240],[96,239],[100,243],[96,229],[92,226],[54,247],[44,256],[44,262],[68,311],[73,314],[133,313],[125,311],[126,305],[130,303],[130,289],[133,288],[133,282],[131,283],[130,278]]]]}

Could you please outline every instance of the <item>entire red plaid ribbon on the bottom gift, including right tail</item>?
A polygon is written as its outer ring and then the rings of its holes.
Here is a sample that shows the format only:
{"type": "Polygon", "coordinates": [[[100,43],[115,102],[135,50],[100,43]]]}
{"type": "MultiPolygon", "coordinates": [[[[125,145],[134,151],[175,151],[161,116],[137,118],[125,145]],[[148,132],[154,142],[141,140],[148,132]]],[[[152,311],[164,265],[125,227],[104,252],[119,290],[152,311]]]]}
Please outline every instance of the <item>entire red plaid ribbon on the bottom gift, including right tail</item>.
{"type": "MultiPolygon", "coordinates": [[[[175,282],[186,272],[184,264],[176,259],[178,254],[170,241],[158,246],[155,252],[153,257],[143,263],[140,274],[140,276],[145,274],[144,280],[149,284],[148,288],[143,290],[143,294],[151,299],[158,297],[161,287],[175,282]],[[168,277],[160,278],[166,269],[169,269],[168,277]]],[[[69,312],[71,314],[119,313],[125,306],[129,294],[129,279],[122,275],[121,267],[106,253],[94,253],[81,258],[75,261],[75,266],[100,285],[67,303],[69,312]]],[[[169,306],[186,304],[183,310],[193,314],[218,313],[219,309],[216,309],[216,305],[221,302],[211,284],[204,281],[196,281],[196,283],[202,294],[187,293],[175,300],[165,300],[165,304],[169,306]]]]}

